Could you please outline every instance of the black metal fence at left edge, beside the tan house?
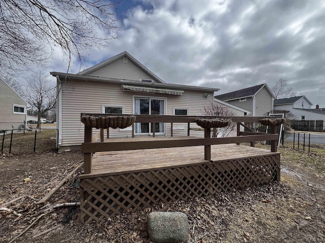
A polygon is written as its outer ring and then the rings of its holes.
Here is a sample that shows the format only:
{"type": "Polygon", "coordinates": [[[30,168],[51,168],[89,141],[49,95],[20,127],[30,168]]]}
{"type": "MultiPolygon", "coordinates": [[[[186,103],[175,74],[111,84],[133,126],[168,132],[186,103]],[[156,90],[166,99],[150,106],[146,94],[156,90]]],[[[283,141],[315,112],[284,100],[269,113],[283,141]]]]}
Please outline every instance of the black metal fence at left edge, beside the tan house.
{"type": "Polygon", "coordinates": [[[0,130],[1,153],[57,151],[57,129],[0,130]]]}

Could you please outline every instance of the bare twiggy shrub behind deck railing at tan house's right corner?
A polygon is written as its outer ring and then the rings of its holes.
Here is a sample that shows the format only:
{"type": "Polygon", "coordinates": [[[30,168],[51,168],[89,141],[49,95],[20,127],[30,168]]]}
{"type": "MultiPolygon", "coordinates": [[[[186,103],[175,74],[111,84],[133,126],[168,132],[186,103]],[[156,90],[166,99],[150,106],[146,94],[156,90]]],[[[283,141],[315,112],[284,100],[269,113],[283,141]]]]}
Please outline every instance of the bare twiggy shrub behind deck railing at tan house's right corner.
{"type": "MultiPolygon", "coordinates": [[[[225,106],[218,102],[210,102],[209,105],[203,107],[203,113],[208,116],[236,116],[236,111],[231,107],[225,106]]],[[[227,137],[231,132],[236,130],[236,124],[232,123],[228,127],[218,128],[217,136],[227,137]]]]}

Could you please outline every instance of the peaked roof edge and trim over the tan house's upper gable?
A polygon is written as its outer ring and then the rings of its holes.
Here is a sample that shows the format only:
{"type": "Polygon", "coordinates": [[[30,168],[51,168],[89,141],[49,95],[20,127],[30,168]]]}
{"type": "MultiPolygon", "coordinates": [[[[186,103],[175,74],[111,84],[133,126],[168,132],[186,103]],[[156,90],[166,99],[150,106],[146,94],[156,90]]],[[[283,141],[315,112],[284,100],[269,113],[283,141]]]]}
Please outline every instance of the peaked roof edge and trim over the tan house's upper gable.
{"type": "Polygon", "coordinates": [[[156,74],[154,74],[152,71],[150,71],[148,68],[146,68],[145,65],[143,65],[142,63],[140,63],[137,59],[135,59],[131,54],[129,54],[128,52],[124,51],[120,54],[117,54],[116,56],[114,57],[111,57],[103,62],[100,62],[92,67],[89,67],[81,72],[78,72],[77,74],[81,74],[81,75],[87,75],[89,74],[90,72],[96,70],[96,69],[99,69],[101,67],[104,67],[105,65],[108,65],[122,57],[127,57],[128,59],[132,60],[139,68],[141,68],[143,71],[145,71],[146,73],[148,73],[150,76],[152,76],[154,79],[156,79],[159,83],[165,83],[163,81],[163,79],[160,79],[156,74]]]}

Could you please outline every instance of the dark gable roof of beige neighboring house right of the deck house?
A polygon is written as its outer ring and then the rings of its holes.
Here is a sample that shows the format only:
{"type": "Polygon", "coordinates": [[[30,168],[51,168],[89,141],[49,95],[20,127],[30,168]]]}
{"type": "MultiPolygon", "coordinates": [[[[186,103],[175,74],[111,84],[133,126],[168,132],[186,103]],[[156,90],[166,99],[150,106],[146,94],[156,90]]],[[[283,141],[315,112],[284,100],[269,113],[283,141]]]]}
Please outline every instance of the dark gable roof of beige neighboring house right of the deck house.
{"type": "Polygon", "coordinates": [[[253,86],[253,87],[248,87],[248,88],[245,88],[245,89],[236,90],[236,91],[229,92],[229,93],[226,93],[226,94],[217,95],[214,98],[219,99],[219,100],[223,100],[223,101],[229,101],[229,100],[237,100],[237,99],[241,99],[241,98],[252,97],[252,96],[256,95],[258,93],[258,91],[260,91],[264,87],[268,90],[270,95],[273,98],[275,98],[273,92],[270,90],[270,88],[267,86],[267,84],[256,85],[256,86],[253,86]]]}

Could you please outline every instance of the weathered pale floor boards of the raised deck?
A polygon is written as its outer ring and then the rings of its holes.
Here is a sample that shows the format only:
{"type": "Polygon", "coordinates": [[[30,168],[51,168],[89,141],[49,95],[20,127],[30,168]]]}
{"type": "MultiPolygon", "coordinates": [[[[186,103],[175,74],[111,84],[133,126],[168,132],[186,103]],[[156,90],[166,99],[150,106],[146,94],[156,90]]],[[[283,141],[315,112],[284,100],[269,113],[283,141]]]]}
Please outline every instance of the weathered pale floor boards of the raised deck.
{"type": "MultiPolygon", "coordinates": [[[[116,141],[116,139],[108,140],[116,141]]],[[[261,148],[236,144],[211,146],[211,160],[214,163],[228,159],[265,156],[277,153],[261,148]]],[[[84,176],[93,177],[103,174],[109,175],[141,170],[181,167],[206,163],[206,161],[204,159],[204,146],[96,152],[92,158],[92,173],[84,176]]]]}

